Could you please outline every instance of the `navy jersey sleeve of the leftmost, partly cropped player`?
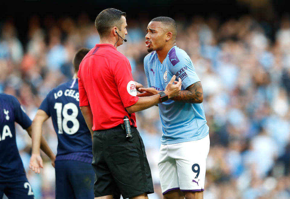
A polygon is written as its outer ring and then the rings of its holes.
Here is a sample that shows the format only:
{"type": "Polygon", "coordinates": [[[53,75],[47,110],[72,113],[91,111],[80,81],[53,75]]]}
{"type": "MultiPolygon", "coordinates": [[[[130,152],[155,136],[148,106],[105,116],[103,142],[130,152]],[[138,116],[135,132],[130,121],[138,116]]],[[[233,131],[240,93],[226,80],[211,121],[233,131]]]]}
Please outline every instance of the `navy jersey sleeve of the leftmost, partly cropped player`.
{"type": "Polygon", "coordinates": [[[23,129],[27,129],[31,126],[31,119],[27,116],[23,107],[15,97],[12,98],[12,103],[14,105],[15,122],[17,122],[23,129]]]}

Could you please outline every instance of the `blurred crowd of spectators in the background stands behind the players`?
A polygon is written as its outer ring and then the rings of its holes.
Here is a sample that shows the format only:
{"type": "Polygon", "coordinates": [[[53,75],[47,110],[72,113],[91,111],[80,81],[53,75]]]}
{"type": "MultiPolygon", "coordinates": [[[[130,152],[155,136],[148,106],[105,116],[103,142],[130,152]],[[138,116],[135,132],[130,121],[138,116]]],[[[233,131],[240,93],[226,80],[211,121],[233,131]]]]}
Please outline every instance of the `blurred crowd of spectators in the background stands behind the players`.
{"type": "MultiPolygon", "coordinates": [[[[127,18],[128,42],[118,47],[130,61],[134,80],[144,86],[145,35],[150,20],[127,18]]],[[[290,198],[289,16],[275,24],[251,15],[223,21],[198,16],[175,20],[177,47],[192,59],[204,91],[211,140],[204,198],[290,198]]],[[[0,92],[17,97],[31,119],[48,92],[72,78],[76,50],[99,42],[94,19],[86,14],[77,18],[33,16],[24,40],[19,39],[12,18],[0,24],[0,31],[0,92]]],[[[100,78],[106,78],[105,74],[100,78]]],[[[158,108],[137,112],[136,117],[155,188],[149,198],[160,199],[158,108]]],[[[42,153],[44,168],[34,174],[28,167],[31,139],[19,125],[16,134],[35,197],[54,198],[50,160],[42,153]]],[[[51,120],[44,124],[43,135],[56,153],[51,120]]]]}

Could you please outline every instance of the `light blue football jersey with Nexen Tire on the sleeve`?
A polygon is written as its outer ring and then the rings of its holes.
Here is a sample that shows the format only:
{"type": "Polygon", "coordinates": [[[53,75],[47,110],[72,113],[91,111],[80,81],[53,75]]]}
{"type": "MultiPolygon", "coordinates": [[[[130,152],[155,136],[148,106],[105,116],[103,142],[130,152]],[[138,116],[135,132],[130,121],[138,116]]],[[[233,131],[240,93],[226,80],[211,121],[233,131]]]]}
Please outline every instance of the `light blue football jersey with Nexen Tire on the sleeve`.
{"type": "MultiPolygon", "coordinates": [[[[173,75],[182,80],[181,90],[199,82],[194,66],[187,53],[172,47],[161,64],[154,51],[144,58],[144,70],[148,87],[164,91],[173,75]]],[[[200,140],[208,135],[205,111],[201,104],[168,100],[158,104],[162,123],[162,144],[175,144],[200,140]]]]}

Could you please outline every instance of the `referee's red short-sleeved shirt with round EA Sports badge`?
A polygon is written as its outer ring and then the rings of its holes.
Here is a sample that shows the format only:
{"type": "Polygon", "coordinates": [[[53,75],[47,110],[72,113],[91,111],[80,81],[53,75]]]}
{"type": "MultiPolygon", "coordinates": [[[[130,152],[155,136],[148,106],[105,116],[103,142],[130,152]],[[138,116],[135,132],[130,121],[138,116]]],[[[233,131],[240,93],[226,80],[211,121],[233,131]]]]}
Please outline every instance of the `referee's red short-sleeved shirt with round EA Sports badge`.
{"type": "Polygon", "coordinates": [[[90,105],[92,130],[110,129],[127,115],[137,127],[135,113],[125,107],[138,101],[129,60],[111,44],[97,44],[79,65],[79,106],[90,105]]]}

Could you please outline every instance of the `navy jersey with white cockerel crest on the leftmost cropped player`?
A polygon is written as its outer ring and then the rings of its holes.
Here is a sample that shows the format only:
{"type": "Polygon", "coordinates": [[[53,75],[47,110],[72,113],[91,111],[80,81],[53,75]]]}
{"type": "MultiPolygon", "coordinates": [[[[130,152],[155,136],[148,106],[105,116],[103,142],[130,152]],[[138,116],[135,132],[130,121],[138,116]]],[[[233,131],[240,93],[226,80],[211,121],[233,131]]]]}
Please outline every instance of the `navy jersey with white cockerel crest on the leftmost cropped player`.
{"type": "Polygon", "coordinates": [[[0,181],[25,175],[15,138],[15,123],[24,129],[31,126],[19,101],[12,95],[0,93],[0,181]]]}

